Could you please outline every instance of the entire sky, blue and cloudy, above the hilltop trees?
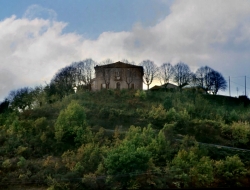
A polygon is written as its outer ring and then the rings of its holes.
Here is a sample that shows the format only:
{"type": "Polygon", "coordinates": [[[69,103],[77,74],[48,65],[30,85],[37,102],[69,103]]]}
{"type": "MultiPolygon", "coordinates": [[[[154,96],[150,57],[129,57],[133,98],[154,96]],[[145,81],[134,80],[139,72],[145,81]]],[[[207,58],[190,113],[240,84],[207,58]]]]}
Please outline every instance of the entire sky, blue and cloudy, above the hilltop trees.
{"type": "Polygon", "coordinates": [[[249,0],[0,1],[0,101],[86,58],[207,65],[250,95],[249,52],[249,0]]]}

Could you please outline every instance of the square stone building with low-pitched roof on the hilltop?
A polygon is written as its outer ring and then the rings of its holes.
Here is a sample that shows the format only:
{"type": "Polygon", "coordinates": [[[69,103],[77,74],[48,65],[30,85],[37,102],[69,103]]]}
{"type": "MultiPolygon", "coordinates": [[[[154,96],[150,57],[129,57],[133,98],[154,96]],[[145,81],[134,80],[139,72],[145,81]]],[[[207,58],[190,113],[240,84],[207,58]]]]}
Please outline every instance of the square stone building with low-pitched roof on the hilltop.
{"type": "Polygon", "coordinates": [[[92,90],[143,88],[143,67],[123,62],[95,66],[92,90]]]}

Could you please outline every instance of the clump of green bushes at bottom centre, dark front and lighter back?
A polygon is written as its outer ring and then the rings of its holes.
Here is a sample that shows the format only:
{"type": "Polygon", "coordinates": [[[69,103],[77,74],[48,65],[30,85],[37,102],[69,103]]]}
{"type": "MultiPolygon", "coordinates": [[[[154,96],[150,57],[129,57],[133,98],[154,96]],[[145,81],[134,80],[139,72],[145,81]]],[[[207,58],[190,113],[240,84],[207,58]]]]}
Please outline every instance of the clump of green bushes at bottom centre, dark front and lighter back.
{"type": "Polygon", "coordinates": [[[161,180],[146,171],[158,171],[154,162],[163,163],[169,159],[169,149],[163,131],[157,134],[150,125],[144,128],[131,126],[124,140],[109,151],[104,160],[109,174],[107,183],[115,185],[122,179],[117,188],[159,186],[161,180]]]}

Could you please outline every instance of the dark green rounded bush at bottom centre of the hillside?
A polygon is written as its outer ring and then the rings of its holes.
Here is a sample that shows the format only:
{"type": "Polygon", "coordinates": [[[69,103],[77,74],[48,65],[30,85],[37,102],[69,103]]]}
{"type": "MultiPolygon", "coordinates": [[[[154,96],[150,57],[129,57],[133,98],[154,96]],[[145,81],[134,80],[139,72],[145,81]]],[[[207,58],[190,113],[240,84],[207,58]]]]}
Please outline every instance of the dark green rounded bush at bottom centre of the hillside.
{"type": "Polygon", "coordinates": [[[150,152],[144,147],[137,148],[132,142],[126,142],[109,152],[104,160],[107,183],[120,181],[120,188],[127,188],[134,175],[146,172],[150,166],[150,152]]]}

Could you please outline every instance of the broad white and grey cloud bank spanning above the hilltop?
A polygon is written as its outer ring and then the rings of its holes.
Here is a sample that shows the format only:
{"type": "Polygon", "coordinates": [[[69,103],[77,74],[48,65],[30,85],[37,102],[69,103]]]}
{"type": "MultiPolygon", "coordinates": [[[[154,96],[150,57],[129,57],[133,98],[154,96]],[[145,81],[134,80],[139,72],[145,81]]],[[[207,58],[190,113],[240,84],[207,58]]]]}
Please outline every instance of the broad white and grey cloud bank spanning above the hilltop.
{"type": "Polygon", "coordinates": [[[96,40],[62,33],[67,24],[55,18],[53,10],[32,6],[21,19],[0,21],[0,99],[12,89],[49,82],[58,69],[85,58],[183,61],[192,70],[207,64],[226,76],[249,70],[248,0],[177,0],[155,26],[135,23],[132,31],[106,31],[96,40]]]}

